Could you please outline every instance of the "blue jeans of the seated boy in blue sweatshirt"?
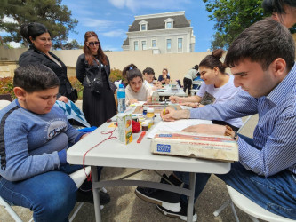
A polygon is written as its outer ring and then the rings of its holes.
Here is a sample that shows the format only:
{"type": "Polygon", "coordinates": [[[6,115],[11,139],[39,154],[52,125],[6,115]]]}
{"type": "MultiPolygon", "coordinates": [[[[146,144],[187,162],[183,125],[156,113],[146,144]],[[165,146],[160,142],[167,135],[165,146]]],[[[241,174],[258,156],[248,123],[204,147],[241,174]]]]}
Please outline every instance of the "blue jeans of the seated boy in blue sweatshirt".
{"type": "MultiPolygon", "coordinates": [[[[68,174],[82,169],[66,165],[60,170],[45,172],[33,178],[12,182],[0,177],[0,195],[16,206],[33,210],[34,221],[68,221],[76,203],[77,187],[68,174]]],[[[100,170],[98,167],[98,177],[100,170]]]]}

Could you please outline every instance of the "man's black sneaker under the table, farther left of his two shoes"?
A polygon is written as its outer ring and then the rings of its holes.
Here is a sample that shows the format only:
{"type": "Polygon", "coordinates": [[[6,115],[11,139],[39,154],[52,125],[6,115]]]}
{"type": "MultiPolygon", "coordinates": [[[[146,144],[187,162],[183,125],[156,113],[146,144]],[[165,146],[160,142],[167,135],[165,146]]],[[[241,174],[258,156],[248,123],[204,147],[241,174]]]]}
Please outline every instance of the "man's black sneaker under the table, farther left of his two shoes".
{"type": "MultiPolygon", "coordinates": [[[[169,180],[169,178],[165,174],[163,177],[169,180]]],[[[168,184],[163,178],[160,182],[163,184],[168,184]]],[[[169,209],[172,212],[180,211],[180,194],[140,186],[136,188],[135,194],[143,201],[163,206],[164,208],[169,209]]]]}

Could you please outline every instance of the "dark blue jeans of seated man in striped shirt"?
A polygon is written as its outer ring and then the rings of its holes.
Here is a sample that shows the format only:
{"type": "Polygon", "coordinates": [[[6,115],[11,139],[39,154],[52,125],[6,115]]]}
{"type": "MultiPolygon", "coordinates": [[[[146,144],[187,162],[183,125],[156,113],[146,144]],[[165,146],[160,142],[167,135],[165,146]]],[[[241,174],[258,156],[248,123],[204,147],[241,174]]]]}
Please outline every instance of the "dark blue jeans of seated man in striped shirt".
{"type": "MultiPolygon", "coordinates": [[[[252,145],[252,139],[239,136],[252,145]]],[[[189,174],[177,171],[174,174],[186,184],[184,187],[188,188],[189,174]]],[[[196,173],[195,201],[210,176],[211,174],[207,173],[196,173]]],[[[231,163],[231,170],[227,174],[216,176],[264,209],[285,218],[296,219],[296,175],[291,171],[284,170],[265,178],[246,170],[241,163],[236,162],[231,163]]],[[[185,195],[181,195],[181,200],[188,202],[185,195]]]]}

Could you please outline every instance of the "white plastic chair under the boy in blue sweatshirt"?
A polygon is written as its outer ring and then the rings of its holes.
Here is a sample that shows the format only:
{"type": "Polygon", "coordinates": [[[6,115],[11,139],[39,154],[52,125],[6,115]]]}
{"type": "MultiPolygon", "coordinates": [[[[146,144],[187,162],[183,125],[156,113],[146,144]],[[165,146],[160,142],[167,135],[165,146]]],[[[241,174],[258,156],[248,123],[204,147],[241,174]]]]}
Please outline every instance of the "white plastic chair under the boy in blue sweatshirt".
{"type": "MultiPolygon", "coordinates": [[[[91,173],[91,167],[88,166],[85,168],[85,172],[87,175],[89,175],[91,173]]],[[[72,178],[76,184],[76,187],[79,188],[83,183],[84,180],[86,178],[86,175],[84,173],[84,169],[81,170],[77,170],[73,173],[71,173],[70,178],[72,178]]],[[[78,207],[76,208],[76,210],[73,212],[71,218],[69,219],[69,221],[73,221],[73,219],[76,217],[76,214],[78,213],[78,211],[81,209],[81,207],[84,205],[84,202],[80,202],[78,207]]],[[[5,202],[4,199],[0,196],[0,206],[3,206],[4,209],[12,216],[12,218],[17,221],[17,222],[22,222],[22,220],[20,219],[19,215],[12,209],[12,206],[8,203],[5,202]]],[[[29,220],[33,221],[33,218],[31,218],[29,220]]]]}

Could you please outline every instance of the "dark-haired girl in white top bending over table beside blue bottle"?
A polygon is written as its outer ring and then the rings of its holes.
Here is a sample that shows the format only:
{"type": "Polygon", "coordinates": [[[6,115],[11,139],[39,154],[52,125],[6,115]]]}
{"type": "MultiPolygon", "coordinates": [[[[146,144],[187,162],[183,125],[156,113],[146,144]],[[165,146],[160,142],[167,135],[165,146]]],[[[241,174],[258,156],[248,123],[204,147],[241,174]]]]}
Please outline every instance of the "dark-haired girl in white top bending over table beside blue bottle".
{"type": "Polygon", "coordinates": [[[150,99],[152,90],[143,84],[143,75],[135,65],[130,64],[124,67],[123,76],[128,83],[128,86],[125,88],[126,105],[150,99]]]}

